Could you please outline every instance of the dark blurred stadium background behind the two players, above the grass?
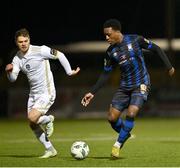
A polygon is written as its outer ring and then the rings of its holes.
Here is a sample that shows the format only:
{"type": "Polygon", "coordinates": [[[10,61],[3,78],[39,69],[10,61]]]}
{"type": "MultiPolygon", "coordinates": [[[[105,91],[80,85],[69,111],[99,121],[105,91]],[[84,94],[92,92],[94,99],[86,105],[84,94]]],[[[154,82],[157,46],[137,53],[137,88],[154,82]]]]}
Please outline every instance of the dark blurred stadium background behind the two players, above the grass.
{"type": "Polygon", "coordinates": [[[20,73],[17,81],[10,83],[4,72],[16,51],[14,33],[22,27],[29,30],[32,44],[59,49],[73,68],[81,68],[79,75],[68,77],[58,61],[50,60],[57,88],[57,99],[50,111],[60,118],[106,117],[112,95],[119,85],[118,68],[87,108],[82,107],[80,101],[103,70],[107,44],[102,25],[109,18],[121,21],[123,34],[143,35],[158,44],[176,69],[175,76],[169,77],[161,58],[143,51],[152,88],[139,116],[180,116],[180,1],[96,3],[5,2],[7,13],[1,15],[0,117],[26,117],[27,79],[20,73]]]}

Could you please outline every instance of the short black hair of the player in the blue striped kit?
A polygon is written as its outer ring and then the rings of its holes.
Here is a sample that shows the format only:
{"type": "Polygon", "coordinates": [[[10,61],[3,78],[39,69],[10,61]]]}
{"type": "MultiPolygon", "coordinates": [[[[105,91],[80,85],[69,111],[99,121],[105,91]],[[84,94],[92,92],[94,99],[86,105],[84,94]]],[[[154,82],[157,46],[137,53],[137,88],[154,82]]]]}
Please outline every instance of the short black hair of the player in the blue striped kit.
{"type": "Polygon", "coordinates": [[[108,19],[104,22],[103,28],[112,27],[114,30],[121,31],[121,23],[117,19],[108,19]]]}

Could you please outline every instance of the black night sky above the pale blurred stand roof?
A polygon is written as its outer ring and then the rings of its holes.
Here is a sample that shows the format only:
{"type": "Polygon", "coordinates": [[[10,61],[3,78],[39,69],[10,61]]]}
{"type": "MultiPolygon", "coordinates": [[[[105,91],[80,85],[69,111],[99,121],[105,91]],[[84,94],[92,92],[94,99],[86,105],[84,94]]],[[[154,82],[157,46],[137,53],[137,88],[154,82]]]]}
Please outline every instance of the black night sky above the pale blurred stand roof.
{"type": "Polygon", "coordinates": [[[8,55],[15,47],[14,33],[22,27],[30,31],[31,42],[37,45],[104,40],[102,24],[109,18],[121,21],[123,33],[137,33],[148,38],[166,37],[165,0],[100,1],[101,5],[93,1],[36,2],[6,1],[7,12],[1,14],[3,55],[8,55]]]}

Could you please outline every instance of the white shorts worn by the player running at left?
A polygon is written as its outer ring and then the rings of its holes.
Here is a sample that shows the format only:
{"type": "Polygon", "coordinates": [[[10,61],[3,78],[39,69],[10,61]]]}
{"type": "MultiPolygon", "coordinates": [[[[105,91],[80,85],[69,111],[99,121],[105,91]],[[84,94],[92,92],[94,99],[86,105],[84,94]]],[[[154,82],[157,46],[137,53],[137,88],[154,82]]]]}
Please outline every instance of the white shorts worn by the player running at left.
{"type": "Polygon", "coordinates": [[[49,94],[37,94],[37,95],[31,95],[28,99],[28,113],[32,109],[36,109],[42,114],[46,114],[49,108],[52,106],[55,100],[55,94],[49,95],[49,94]]]}

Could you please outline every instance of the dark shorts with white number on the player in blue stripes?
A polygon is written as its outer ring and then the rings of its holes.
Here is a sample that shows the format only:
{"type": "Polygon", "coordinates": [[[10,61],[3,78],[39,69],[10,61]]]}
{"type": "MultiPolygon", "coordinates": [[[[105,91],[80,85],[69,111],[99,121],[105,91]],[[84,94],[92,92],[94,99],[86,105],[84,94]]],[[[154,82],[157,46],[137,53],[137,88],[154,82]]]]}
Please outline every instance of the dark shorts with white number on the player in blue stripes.
{"type": "Polygon", "coordinates": [[[113,96],[112,107],[119,111],[128,108],[129,105],[136,105],[139,108],[147,101],[150,87],[141,85],[139,88],[132,90],[125,90],[119,88],[113,96]]]}

